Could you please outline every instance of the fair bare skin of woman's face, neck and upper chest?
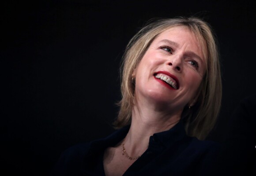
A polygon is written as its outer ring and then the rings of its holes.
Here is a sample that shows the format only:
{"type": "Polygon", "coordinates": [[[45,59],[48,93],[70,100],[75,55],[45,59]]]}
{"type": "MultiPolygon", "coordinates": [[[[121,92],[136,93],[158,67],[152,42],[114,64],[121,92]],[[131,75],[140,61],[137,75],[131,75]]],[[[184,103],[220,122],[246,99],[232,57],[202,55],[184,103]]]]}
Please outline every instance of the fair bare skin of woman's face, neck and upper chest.
{"type": "MultiPolygon", "coordinates": [[[[143,154],[150,136],[172,128],[181,119],[184,107],[196,102],[206,69],[202,47],[185,27],[167,29],[149,46],[134,72],[135,106],[124,140],[130,156],[143,154]]],[[[121,142],[105,150],[106,176],[121,176],[136,162],[122,155],[121,142]]]]}

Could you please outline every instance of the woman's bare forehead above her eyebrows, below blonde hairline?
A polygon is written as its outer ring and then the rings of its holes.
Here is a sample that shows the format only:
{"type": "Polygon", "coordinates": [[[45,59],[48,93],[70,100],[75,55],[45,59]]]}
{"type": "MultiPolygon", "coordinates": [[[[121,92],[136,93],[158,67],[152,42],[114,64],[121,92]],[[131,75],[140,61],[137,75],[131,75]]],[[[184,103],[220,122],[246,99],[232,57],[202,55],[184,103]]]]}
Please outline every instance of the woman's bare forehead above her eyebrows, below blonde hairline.
{"type": "Polygon", "coordinates": [[[206,42],[203,37],[200,34],[192,33],[186,26],[170,27],[160,33],[153,42],[161,40],[170,40],[177,44],[175,47],[186,44],[188,49],[196,52],[203,60],[207,57],[206,42]]]}

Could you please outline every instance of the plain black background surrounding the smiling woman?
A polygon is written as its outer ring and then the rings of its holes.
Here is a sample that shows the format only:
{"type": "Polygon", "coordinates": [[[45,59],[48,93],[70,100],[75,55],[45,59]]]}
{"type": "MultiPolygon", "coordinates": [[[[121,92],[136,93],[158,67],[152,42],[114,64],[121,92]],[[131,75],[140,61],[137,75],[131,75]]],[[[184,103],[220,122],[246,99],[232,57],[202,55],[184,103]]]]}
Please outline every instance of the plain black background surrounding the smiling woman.
{"type": "Polygon", "coordinates": [[[60,153],[105,137],[120,100],[120,59],[151,18],[197,16],[218,36],[223,99],[207,139],[222,142],[255,92],[256,4],[223,1],[9,1],[1,5],[1,172],[47,175],[60,153]]]}

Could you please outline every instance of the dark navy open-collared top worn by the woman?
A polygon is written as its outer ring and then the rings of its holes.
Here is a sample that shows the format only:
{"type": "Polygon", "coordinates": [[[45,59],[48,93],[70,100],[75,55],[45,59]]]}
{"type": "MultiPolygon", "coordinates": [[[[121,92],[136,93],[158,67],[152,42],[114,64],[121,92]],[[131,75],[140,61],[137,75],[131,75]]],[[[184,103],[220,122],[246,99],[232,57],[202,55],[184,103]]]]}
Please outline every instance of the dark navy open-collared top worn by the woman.
{"type": "MultiPolygon", "coordinates": [[[[103,154],[124,139],[129,126],[104,139],[68,148],[56,163],[53,176],[105,176],[103,154]]],[[[188,137],[181,122],[149,139],[148,149],[123,176],[206,176],[219,150],[213,141],[188,137]]],[[[122,152],[120,148],[120,152],[122,152]]]]}

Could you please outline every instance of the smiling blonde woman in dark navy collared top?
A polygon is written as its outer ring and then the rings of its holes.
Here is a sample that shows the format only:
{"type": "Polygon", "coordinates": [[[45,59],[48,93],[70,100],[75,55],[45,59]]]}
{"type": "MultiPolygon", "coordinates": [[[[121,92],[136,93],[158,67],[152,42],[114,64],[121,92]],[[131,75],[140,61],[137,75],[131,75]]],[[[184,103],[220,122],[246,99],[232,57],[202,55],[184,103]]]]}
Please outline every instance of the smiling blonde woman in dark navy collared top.
{"type": "Polygon", "coordinates": [[[215,37],[198,18],[161,19],[129,42],[111,136],[62,154],[54,175],[206,175],[222,84],[215,37]]]}

